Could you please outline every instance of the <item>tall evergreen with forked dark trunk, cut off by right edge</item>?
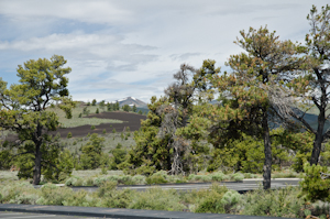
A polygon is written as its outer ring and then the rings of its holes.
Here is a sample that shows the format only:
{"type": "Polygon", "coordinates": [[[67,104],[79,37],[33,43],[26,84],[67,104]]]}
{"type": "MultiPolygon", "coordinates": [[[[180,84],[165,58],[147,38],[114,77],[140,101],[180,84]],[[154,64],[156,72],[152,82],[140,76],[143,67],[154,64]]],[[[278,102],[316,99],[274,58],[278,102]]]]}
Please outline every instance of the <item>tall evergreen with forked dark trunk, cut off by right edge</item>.
{"type": "Polygon", "coordinates": [[[319,13],[317,8],[312,6],[307,19],[311,29],[309,34],[306,34],[306,45],[300,46],[299,50],[306,54],[302,69],[293,72],[284,80],[284,83],[289,81],[286,85],[294,94],[288,91],[288,95],[278,96],[277,100],[288,99],[292,102],[290,108],[287,109],[288,114],[300,121],[300,124],[314,134],[314,147],[309,160],[310,165],[312,165],[318,164],[322,144],[330,136],[330,130],[324,129],[330,117],[328,111],[330,95],[330,6],[322,7],[319,13]],[[298,98],[293,99],[293,95],[298,98]],[[302,101],[304,99],[305,101],[302,101]],[[293,105],[294,102],[295,105],[293,105]],[[316,107],[319,111],[317,128],[311,127],[305,117],[311,107],[316,107]],[[304,111],[292,110],[293,108],[304,109],[304,111]]]}

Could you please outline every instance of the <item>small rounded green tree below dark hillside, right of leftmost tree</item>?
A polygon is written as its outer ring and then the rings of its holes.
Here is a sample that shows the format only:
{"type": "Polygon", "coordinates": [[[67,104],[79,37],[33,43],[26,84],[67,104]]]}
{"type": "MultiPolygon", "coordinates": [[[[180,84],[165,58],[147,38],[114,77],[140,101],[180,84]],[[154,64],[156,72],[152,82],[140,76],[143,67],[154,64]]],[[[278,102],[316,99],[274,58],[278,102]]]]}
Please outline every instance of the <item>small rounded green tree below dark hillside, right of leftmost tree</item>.
{"type": "Polygon", "coordinates": [[[81,146],[80,165],[82,169],[95,169],[101,165],[105,138],[91,134],[89,142],[81,146]]]}

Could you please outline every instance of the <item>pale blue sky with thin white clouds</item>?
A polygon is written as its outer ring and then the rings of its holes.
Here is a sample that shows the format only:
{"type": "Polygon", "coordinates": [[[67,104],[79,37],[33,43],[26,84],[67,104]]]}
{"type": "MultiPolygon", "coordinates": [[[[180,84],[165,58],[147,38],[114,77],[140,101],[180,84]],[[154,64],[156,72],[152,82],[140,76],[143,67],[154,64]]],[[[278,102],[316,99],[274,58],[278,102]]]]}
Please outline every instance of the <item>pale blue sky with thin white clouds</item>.
{"type": "Polygon", "coordinates": [[[0,0],[0,77],[18,83],[29,59],[63,55],[75,100],[148,102],[182,63],[224,62],[241,30],[267,25],[304,42],[311,4],[326,0],[0,0]]]}

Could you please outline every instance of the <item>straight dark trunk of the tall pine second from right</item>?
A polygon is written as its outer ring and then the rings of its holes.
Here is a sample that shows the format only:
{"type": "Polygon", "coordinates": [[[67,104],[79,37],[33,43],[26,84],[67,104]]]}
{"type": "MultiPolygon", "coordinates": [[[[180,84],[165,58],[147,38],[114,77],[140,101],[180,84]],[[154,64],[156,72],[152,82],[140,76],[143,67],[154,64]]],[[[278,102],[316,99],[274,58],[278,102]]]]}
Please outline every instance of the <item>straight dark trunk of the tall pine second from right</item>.
{"type": "Polygon", "coordinates": [[[272,174],[272,143],[270,136],[270,128],[267,121],[267,111],[264,112],[263,116],[263,138],[264,138],[264,153],[265,153],[265,162],[264,162],[264,174],[263,174],[263,187],[264,189],[271,188],[271,174],[272,174]]]}

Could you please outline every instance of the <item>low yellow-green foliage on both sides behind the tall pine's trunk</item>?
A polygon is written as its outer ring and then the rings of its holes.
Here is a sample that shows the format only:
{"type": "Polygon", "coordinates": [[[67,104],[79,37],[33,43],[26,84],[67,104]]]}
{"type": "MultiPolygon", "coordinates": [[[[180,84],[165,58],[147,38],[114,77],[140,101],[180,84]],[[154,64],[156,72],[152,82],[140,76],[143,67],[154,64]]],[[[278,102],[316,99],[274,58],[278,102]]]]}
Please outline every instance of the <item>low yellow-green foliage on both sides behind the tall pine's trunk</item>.
{"type": "MultiPolygon", "coordinates": [[[[273,140],[272,168],[276,169],[282,166],[282,162],[289,161],[289,149],[296,149],[299,143],[302,144],[300,133],[290,134],[284,129],[275,129],[271,131],[273,140]],[[293,138],[293,139],[292,139],[293,138]],[[299,138],[299,140],[298,140],[299,138]],[[289,145],[289,146],[288,146],[289,145]]],[[[301,146],[302,147],[302,146],[301,146]]],[[[243,173],[262,173],[264,163],[264,145],[263,141],[250,135],[242,134],[242,138],[219,145],[219,149],[211,151],[211,160],[207,171],[241,171],[243,173]]]]}

